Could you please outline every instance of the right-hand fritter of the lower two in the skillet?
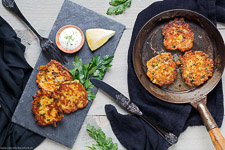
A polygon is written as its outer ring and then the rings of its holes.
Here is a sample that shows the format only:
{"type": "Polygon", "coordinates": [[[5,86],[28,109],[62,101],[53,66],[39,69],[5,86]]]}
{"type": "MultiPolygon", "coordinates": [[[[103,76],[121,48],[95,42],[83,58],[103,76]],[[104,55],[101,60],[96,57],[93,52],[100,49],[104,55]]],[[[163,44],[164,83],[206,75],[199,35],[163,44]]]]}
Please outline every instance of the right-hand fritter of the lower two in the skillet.
{"type": "Polygon", "coordinates": [[[212,76],[213,61],[202,51],[186,52],[181,63],[182,77],[189,86],[199,86],[212,76]]]}

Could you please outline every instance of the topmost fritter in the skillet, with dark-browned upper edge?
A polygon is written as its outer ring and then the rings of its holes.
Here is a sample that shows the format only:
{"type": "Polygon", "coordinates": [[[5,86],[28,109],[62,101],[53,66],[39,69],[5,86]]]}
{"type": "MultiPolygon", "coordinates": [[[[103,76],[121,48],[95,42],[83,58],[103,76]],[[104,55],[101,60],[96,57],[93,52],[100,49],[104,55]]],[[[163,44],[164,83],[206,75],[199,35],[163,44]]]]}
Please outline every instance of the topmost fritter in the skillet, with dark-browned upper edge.
{"type": "Polygon", "coordinates": [[[184,52],[193,46],[194,32],[191,31],[189,24],[185,23],[184,18],[175,18],[162,27],[162,35],[166,49],[179,49],[184,52]]]}

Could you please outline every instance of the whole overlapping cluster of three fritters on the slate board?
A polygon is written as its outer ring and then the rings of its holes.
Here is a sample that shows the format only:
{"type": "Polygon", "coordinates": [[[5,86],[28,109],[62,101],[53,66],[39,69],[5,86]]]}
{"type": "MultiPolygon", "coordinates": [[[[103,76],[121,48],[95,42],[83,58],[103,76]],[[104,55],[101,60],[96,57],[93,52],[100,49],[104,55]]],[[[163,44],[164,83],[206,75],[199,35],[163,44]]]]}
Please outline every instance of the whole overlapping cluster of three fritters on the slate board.
{"type": "Polygon", "coordinates": [[[32,112],[39,125],[55,127],[64,118],[63,112],[69,114],[87,105],[83,85],[72,81],[72,75],[61,63],[51,60],[38,70],[36,82],[40,90],[33,96],[32,112]]]}

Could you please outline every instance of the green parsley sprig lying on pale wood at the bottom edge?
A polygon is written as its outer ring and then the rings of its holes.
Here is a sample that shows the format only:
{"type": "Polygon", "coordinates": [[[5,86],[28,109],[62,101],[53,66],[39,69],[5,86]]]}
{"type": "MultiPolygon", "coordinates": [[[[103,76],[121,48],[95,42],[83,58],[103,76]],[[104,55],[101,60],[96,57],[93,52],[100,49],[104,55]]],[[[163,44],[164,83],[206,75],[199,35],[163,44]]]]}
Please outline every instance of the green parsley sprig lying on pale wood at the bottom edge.
{"type": "Polygon", "coordinates": [[[113,143],[112,138],[106,138],[105,133],[101,128],[96,129],[90,124],[86,128],[90,137],[92,137],[98,144],[92,144],[92,146],[87,146],[91,150],[117,150],[118,144],[113,143]]]}

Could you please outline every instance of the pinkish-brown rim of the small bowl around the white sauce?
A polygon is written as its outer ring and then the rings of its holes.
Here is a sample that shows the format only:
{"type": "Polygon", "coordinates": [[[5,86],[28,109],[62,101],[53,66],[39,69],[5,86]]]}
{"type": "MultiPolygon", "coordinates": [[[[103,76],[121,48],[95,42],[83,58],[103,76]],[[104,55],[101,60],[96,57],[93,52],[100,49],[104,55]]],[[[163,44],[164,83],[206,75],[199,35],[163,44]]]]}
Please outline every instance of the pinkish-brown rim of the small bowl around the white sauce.
{"type": "Polygon", "coordinates": [[[56,33],[55,43],[56,43],[57,47],[58,47],[61,51],[65,52],[65,53],[75,53],[75,52],[79,51],[79,50],[82,48],[82,46],[84,45],[84,33],[83,33],[83,31],[82,31],[79,27],[77,27],[77,26],[75,26],[75,25],[65,25],[65,26],[62,26],[62,27],[57,31],[57,33],[56,33]],[[80,45],[79,45],[78,47],[76,47],[75,49],[68,50],[68,49],[62,47],[61,43],[59,42],[59,36],[60,36],[61,32],[62,32],[63,30],[65,30],[66,28],[75,28],[75,29],[77,29],[77,30],[81,33],[81,38],[82,38],[81,43],[80,43],[80,45]]]}

